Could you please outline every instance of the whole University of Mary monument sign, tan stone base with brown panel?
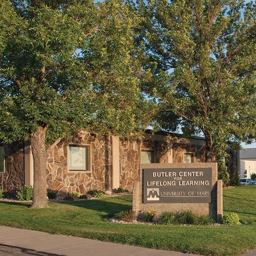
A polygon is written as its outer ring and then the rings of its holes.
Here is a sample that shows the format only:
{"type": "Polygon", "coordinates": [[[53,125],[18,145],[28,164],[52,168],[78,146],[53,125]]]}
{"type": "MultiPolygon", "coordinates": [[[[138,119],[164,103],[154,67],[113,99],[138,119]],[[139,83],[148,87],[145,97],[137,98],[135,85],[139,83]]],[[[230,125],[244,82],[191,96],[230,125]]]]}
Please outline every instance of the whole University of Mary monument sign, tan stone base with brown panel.
{"type": "Polygon", "coordinates": [[[141,164],[140,180],[133,187],[133,211],[191,210],[222,218],[222,180],[217,163],[141,164]]]}

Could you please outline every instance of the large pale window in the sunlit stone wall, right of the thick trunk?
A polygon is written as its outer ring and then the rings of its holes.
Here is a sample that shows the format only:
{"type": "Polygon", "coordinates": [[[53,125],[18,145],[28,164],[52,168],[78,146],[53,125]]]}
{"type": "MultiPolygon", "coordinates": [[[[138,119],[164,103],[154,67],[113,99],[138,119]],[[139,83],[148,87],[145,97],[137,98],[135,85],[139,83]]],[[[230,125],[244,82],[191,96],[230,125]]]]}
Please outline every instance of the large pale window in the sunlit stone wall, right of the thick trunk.
{"type": "Polygon", "coordinates": [[[90,171],[89,146],[69,145],[69,171],[90,171]]]}

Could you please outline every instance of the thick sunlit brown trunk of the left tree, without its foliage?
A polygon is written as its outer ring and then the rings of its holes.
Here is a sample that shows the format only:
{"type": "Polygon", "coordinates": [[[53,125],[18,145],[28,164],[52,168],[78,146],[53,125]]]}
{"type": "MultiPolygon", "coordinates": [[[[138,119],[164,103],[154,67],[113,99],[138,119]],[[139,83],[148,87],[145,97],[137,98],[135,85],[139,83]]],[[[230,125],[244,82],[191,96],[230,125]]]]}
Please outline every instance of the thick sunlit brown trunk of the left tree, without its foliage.
{"type": "Polygon", "coordinates": [[[43,127],[39,127],[30,138],[34,161],[33,202],[31,208],[46,208],[48,207],[46,192],[47,152],[43,127]]]}

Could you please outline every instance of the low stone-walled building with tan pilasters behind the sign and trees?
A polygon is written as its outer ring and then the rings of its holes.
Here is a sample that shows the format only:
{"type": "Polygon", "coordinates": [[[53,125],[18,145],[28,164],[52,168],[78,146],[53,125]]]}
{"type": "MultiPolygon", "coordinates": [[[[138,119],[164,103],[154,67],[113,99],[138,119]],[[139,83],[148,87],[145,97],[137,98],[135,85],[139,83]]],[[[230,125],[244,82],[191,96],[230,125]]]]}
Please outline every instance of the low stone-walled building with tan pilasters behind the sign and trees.
{"type": "MultiPolygon", "coordinates": [[[[90,189],[131,190],[138,180],[140,163],[200,163],[205,161],[203,137],[146,131],[136,142],[118,137],[79,133],[72,142],[61,142],[47,159],[47,186],[58,194],[90,189]]],[[[0,188],[14,192],[33,185],[33,157],[29,142],[0,144],[0,188]]]]}

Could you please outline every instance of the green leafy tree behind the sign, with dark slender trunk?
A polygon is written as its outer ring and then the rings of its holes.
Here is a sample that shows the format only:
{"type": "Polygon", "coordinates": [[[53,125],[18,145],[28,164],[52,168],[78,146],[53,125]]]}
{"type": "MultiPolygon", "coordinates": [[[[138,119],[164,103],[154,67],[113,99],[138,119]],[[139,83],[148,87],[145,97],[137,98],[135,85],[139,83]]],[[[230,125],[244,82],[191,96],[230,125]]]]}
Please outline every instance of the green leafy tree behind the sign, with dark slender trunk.
{"type": "Polygon", "coordinates": [[[156,125],[203,133],[206,162],[223,160],[227,144],[255,138],[255,3],[242,0],[138,0],[137,43],[158,103],[156,125]],[[243,12],[243,13],[242,13],[243,12]]]}

